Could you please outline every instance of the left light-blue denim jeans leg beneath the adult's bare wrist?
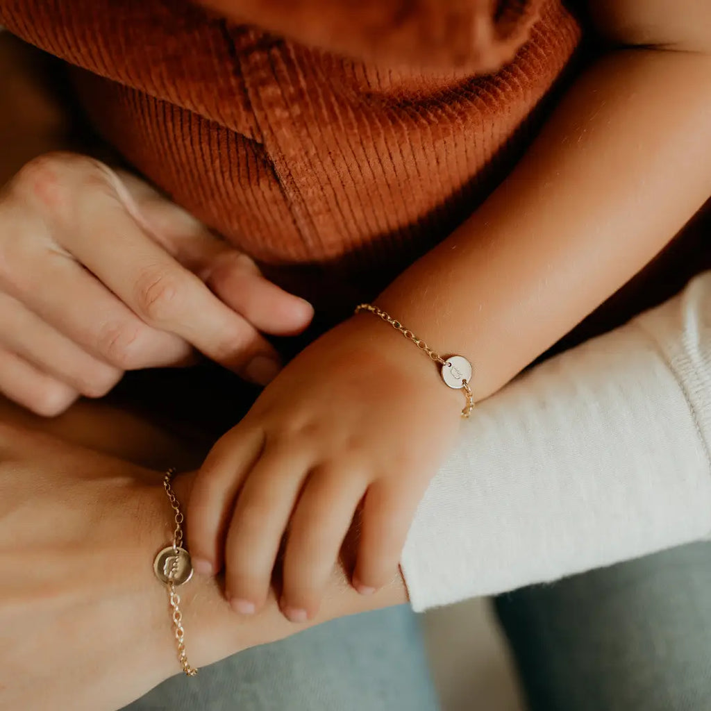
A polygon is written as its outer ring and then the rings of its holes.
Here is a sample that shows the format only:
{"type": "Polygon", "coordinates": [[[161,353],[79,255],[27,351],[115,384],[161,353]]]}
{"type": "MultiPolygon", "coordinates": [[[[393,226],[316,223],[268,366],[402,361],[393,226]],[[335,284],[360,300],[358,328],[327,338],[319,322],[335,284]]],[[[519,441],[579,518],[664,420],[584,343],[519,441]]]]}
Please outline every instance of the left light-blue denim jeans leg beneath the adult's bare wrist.
{"type": "Polygon", "coordinates": [[[417,616],[334,620],[175,676],[125,711],[437,711],[417,616]]]}

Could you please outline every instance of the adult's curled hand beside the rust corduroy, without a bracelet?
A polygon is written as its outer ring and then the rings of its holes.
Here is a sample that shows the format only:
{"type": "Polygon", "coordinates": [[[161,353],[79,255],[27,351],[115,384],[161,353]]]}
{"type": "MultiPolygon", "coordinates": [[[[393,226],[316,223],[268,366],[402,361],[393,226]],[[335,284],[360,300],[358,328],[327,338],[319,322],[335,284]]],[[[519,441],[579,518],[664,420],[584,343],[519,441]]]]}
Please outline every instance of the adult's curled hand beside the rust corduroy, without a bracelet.
{"type": "Polygon", "coordinates": [[[0,195],[0,392],[40,415],[105,395],[125,370],[193,348],[247,380],[279,370],[260,332],[311,306],[128,173],[70,153],[28,163],[0,195]]]}

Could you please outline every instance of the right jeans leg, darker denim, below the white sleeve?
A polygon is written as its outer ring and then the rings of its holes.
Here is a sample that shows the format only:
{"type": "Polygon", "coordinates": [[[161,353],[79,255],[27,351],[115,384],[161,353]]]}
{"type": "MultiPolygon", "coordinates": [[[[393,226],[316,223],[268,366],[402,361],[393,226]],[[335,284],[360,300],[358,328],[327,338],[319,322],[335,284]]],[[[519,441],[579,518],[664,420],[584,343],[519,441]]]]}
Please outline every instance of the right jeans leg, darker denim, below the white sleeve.
{"type": "Polygon", "coordinates": [[[496,599],[530,711],[711,709],[711,543],[496,599]]]}

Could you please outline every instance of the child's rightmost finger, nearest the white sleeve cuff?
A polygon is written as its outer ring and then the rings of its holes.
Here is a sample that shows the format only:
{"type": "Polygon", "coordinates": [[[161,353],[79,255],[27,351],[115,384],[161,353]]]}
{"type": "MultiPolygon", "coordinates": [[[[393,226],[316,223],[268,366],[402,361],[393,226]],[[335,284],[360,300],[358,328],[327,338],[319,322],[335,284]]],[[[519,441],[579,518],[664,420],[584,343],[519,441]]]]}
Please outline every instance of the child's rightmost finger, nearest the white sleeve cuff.
{"type": "Polygon", "coordinates": [[[361,594],[372,594],[395,576],[416,507],[417,501],[390,483],[368,488],[353,572],[353,587],[361,594]]]}

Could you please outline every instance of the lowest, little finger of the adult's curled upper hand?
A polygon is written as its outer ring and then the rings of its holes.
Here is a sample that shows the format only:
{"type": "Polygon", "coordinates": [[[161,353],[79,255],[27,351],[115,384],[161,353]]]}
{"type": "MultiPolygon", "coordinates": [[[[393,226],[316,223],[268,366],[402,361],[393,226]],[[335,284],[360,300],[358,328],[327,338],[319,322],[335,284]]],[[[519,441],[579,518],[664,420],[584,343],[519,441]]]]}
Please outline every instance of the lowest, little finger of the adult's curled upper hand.
{"type": "Polygon", "coordinates": [[[36,415],[55,417],[79,393],[51,375],[42,373],[20,356],[0,346],[0,392],[36,415]]]}

